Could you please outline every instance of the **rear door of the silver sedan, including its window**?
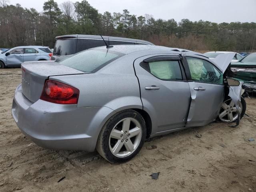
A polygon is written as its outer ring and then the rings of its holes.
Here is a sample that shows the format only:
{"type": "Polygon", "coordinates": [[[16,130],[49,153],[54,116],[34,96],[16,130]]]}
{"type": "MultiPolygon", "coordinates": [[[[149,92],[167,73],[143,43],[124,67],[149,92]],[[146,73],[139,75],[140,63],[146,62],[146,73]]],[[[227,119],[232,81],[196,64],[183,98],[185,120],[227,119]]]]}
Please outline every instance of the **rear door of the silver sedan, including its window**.
{"type": "Polygon", "coordinates": [[[152,120],[152,134],[184,127],[190,89],[178,55],[144,56],[134,62],[143,109],[152,120]]]}

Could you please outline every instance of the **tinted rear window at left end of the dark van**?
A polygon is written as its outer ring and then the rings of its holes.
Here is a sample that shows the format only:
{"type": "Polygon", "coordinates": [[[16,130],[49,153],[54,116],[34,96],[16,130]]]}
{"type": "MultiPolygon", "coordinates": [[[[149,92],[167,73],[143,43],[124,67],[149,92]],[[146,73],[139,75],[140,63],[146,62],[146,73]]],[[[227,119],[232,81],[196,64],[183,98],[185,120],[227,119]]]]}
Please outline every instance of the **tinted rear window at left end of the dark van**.
{"type": "Polygon", "coordinates": [[[58,39],[54,45],[54,55],[72,55],[76,53],[77,38],[58,39]]]}

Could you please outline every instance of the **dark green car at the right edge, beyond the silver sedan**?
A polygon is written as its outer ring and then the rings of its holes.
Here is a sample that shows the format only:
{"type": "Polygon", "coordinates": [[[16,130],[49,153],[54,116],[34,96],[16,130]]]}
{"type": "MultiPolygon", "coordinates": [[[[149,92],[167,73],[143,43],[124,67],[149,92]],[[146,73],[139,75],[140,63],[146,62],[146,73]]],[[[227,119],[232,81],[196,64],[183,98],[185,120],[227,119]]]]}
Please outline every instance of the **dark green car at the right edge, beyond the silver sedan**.
{"type": "Polygon", "coordinates": [[[231,63],[231,70],[236,79],[243,81],[250,89],[247,92],[256,92],[256,53],[251,53],[236,63],[231,63]]]}

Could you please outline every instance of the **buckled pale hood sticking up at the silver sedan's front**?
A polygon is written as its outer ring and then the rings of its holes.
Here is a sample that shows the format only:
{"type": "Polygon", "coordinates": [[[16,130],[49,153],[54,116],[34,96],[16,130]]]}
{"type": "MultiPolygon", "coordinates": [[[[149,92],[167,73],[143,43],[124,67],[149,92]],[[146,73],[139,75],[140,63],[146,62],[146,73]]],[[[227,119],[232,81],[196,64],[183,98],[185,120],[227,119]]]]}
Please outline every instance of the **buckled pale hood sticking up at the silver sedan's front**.
{"type": "Polygon", "coordinates": [[[234,58],[235,54],[236,53],[219,54],[218,56],[216,56],[216,58],[212,58],[212,60],[222,70],[222,73],[224,73],[228,68],[228,65],[234,58]]]}

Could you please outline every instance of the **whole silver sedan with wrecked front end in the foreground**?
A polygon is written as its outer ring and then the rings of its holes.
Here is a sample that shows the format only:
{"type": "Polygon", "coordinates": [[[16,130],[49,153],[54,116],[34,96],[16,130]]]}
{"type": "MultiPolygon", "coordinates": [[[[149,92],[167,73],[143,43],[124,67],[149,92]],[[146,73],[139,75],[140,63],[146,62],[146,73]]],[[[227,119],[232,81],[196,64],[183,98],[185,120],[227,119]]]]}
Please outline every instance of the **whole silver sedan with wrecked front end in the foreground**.
{"type": "Polygon", "coordinates": [[[146,138],[216,118],[240,120],[246,103],[232,94],[241,92],[239,81],[226,79],[230,62],[217,65],[202,54],[171,49],[116,45],[41,62],[40,70],[24,63],[13,118],[40,146],[97,149],[112,163],[133,158],[146,138]]]}

